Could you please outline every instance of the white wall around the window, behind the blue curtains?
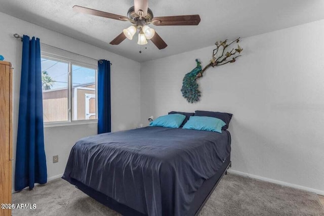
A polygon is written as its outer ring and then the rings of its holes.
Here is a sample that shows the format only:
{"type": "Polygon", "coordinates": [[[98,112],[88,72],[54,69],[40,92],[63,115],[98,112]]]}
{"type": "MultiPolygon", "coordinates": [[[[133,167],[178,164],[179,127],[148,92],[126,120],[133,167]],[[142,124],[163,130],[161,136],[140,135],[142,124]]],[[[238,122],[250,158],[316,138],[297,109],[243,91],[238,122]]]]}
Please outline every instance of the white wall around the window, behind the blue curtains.
{"type": "MultiPolygon", "coordinates": [[[[135,128],[140,121],[140,63],[118,56],[98,47],[86,44],[52,30],[42,28],[23,20],[0,13],[0,54],[10,61],[14,71],[14,156],[17,139],[19,89],[22,42],[12,35],[19,33],[41,38],[41,42],[70,52],[95,59],[107,59],[111,66],[111,124],[112,131],[135,128]]],[[[96,124],[46,127],[45,151],[48,178],[52,179],[64,171],[67,157],[75,141],[97,134],[96,124]],[[53,163],[52,156],[59,155],[59,162],[53,163]]],[[[13,166],[15,163],[13,163],[13,166]]],[[[13,170],[15,168],[13,167],[13,170]]],[[[14,172],[13,172],[14,173],[14,172]]],[[[14,176],[14,175],[13,175],[14,176]]]]}

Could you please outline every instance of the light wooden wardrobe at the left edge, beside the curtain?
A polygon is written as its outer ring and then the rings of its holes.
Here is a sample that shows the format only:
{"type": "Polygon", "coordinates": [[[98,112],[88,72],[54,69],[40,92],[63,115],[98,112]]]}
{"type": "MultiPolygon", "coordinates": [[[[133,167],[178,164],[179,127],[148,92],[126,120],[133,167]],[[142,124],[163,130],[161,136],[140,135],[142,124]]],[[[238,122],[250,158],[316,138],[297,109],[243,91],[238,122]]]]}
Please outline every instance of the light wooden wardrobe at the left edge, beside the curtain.
{"type": "MultiPolygon", "coordinates": [[[[12,75],[11,63],[0,61],[0,204],[12,203],[12,75]]],[[[5,215],[11,210],[0,208],[5,215]]]]}

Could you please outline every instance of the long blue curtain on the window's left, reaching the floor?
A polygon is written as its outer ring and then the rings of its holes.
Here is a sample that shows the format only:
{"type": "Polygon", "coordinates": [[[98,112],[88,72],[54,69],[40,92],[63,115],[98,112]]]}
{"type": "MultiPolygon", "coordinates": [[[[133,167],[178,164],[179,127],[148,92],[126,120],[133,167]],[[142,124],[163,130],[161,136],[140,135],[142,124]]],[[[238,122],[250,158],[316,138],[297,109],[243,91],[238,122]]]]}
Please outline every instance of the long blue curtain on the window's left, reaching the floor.
{"type": "Polygon", "coordinates": [[[41,46],[23,36],[15,190],[47,182],[44,149],[41,46]]]}

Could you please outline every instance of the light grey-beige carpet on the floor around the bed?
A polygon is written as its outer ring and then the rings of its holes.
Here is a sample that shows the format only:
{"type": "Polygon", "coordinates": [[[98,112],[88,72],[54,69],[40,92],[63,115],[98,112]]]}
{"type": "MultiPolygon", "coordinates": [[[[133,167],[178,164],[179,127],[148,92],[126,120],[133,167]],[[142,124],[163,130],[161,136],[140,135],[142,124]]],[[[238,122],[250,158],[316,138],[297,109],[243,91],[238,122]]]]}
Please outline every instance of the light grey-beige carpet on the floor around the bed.
{"type": "MultiPolygon", "coordinates": [[[[62,179],[15,193],[13,203],[36,204],[36,209],[14,209],[13,215],[119,215],[62,179]]],[[[314,193],[229,174],[200,215],[324,216],[324,208],[314,193]]]]}

